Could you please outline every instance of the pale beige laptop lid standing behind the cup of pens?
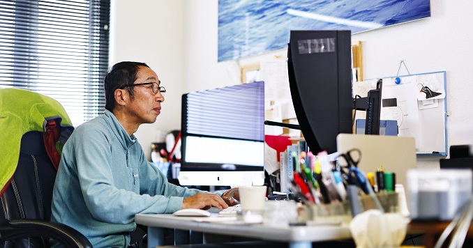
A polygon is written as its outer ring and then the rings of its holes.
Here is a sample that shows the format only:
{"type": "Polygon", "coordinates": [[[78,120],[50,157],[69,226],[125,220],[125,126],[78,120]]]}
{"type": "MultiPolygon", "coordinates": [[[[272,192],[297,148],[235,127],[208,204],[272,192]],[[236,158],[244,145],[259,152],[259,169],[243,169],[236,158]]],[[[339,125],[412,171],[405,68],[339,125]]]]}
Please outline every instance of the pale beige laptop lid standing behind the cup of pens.
{"type": "MultiPolygon", "coordinates": [[[[338,134],[337,151],[346,153],[352,148],[361,151],[358,168],[364,173],[375,173],[381,166],[396,173],[396,184],[402,184],[408,199],[407,170],[417,168],[416,144],[413,137],[384,135],[338,134]]],[[[345,161],[340,160],[340,164],[345,161]]]]}

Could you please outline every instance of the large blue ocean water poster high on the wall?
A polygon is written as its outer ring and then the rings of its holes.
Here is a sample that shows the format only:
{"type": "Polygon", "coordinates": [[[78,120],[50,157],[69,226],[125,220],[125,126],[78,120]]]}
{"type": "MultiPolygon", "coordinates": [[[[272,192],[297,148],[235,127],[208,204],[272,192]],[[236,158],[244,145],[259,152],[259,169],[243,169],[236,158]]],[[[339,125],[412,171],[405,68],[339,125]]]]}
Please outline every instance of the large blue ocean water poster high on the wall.
{"type": "Polygon", "coordinates": [[[290,30],[359,33],[430,17],[430,0],[218,0],[218,61],[283,49],[290,30]]]}

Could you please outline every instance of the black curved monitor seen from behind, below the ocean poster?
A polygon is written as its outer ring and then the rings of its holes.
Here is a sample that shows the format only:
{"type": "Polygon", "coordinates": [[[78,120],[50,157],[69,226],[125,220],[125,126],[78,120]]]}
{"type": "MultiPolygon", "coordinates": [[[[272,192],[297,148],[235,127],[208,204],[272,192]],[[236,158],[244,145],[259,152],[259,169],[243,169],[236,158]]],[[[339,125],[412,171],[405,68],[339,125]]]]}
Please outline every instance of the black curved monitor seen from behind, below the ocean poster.
{"type": "Polygon", "coordinates": [[[287,66],[294,110],[310,150],[336,152],[352,133],[350,31],[291,31],[287,66]]]}

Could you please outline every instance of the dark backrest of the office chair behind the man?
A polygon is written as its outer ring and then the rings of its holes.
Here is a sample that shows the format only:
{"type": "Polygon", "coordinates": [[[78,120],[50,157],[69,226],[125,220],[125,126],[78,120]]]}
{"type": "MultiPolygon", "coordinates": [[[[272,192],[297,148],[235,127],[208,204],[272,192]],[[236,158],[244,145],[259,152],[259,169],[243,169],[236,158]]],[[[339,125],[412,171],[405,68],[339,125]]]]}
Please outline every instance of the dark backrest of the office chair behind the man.
{"type": "MultiPolygon", "coordinates": [[[[55,178],[56,169],[47,155],[43,132],[27,132],[22,137],[13,179],[1,195],[0,224],[25,218],[50,221],[55,178]]],[[[49,244],[47,238],[29,237],[2,242],[0,247],[49,247],[49,244]]]]}

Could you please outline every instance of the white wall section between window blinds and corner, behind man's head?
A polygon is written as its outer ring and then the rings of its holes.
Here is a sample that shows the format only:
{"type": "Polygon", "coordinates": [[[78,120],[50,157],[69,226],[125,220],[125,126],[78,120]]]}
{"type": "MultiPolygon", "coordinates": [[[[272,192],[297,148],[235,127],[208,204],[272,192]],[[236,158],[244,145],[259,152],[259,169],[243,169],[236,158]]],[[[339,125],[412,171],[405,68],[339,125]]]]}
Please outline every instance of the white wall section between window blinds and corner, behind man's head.
{"type": "Polygon", "coordinates": [[[166,132],[181,129],[185,59],[183,3],[183,0],[112,1],[110,66],[119,61],[147,63],[167,91],[156,123],[141,125],[135,133],[148,157],[151,142],[164,141],[166,132]]]}

